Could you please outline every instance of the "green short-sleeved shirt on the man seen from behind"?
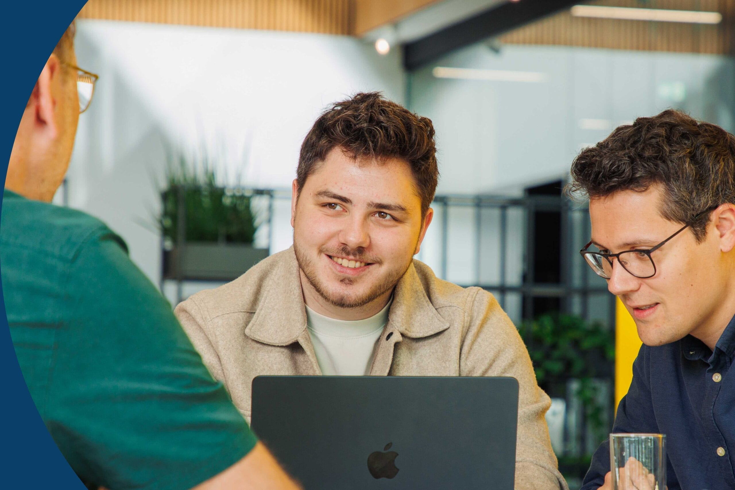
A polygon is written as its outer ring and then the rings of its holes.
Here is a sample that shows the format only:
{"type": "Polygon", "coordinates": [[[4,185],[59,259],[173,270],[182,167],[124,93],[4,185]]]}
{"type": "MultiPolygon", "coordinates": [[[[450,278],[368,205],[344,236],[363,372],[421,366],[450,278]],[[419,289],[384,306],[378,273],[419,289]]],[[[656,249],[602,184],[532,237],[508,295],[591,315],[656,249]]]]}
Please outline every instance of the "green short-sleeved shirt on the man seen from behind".
{"type": "Polygon", "coordinates": [[[10,334],[43,422],[88,485],[190,489],[256,439],[126,245],[82,212],[4,191],[10,334]]]}

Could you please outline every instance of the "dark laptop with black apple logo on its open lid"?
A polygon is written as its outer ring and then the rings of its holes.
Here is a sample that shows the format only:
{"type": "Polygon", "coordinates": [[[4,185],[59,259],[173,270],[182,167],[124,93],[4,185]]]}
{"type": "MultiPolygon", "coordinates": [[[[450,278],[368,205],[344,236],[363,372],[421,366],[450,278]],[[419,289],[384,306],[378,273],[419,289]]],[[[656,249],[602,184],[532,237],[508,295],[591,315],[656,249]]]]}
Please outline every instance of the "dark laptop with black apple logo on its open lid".
{"type": "Polygon", "coordinates": [[[258,376],[254,433],[306,490],[513,490],[514,378],[258,376]]]}

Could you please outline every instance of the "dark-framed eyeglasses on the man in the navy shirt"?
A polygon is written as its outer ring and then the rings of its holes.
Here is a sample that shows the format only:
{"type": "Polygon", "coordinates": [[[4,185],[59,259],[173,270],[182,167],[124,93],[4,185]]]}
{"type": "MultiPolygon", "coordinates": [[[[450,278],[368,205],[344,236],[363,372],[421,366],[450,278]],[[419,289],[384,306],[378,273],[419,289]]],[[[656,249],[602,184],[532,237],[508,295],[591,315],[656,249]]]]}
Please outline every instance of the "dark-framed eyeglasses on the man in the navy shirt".
{"type": "Polygon", "coordinates": [[[700,217],[713,210],[714,208],[709,208],[700,212],[700,214],[694,217],[692,223],[682,226],[673,235],[653,248],[626,250],[618,253],[589,252],[587,248],[589,248],[589,245],[592,245],[592,241],[590,240],[579,253],[587,261],[589,267],[592,267],[592,270],[601,278],[609,279],[612,277],[612,259],[615,258],[623,266],[623,269],[627,270],[631,275],[639,279],[648,279],[656,275],[656,263],[653,262],[653,257],[650,254],[659,250],[670,239],[686,230],[686,228],[689,228],[689,226],[692,226],[700,217]]]}

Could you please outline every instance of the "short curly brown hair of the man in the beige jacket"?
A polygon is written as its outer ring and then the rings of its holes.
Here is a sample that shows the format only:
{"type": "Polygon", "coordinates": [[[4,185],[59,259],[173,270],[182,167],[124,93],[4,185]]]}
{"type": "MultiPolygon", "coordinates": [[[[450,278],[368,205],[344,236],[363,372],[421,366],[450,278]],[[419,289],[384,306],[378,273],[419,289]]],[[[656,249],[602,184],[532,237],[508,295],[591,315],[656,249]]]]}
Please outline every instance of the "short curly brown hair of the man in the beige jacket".
{"type": "Polygon", "coordinates": [[[357,93],[332,104],[314,123],[301,144],[296,169],[298,190],[334,148],[354,160],[404,160],[411,167],[421,214],[426,215],[439,181],[434,125],[379,92],[357,93]]]}

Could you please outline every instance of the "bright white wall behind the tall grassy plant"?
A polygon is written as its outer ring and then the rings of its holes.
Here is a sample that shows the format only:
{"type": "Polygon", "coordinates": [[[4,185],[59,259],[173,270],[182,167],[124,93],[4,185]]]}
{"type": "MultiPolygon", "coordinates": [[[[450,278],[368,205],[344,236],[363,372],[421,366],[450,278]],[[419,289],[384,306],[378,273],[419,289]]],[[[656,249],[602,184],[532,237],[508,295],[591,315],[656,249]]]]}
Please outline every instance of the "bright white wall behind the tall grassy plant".
{"type": "MultiPolygon", "coordinates": [[[[106,221],[157,283],[165,148],[206,148],[228,180],[290,187],[298,149],[331,102],[382,90],[404,103],[399,50],[352,37],[79,21],[78,64],[100,75],[68,173],[68,201],[106,221]]],[[[290,245],[287,206],[274,249],[290,245]],[[281,229],[283,228],[283,229],[281,229]]]]}

